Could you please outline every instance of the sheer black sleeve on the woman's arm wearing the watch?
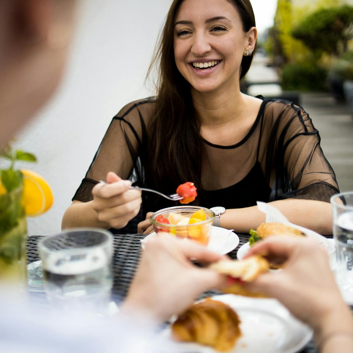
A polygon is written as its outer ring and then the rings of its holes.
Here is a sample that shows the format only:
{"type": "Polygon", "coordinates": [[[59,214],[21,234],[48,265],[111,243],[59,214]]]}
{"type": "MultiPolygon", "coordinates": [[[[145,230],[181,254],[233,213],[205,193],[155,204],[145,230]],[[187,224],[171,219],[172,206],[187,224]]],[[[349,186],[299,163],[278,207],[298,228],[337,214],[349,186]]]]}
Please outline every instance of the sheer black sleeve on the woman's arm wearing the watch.
{"type": "Polygon", "coordinates": [[[339,187],[309,115],[293,103],[282,105],[277,124],[276,199],[330,202],[339,187]]]}

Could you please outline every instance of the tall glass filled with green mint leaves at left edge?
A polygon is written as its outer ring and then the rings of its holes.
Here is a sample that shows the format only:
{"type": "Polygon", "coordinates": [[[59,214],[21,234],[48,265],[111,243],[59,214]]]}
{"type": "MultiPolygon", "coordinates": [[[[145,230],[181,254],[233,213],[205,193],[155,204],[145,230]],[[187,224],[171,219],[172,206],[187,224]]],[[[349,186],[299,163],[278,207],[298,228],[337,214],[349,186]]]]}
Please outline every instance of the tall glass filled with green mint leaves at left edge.
{"type": "Polygon", "coordinates": [[[0,195],[0,282],[24,292],[26,286],[26,216],[22,187],[0,195]]]}

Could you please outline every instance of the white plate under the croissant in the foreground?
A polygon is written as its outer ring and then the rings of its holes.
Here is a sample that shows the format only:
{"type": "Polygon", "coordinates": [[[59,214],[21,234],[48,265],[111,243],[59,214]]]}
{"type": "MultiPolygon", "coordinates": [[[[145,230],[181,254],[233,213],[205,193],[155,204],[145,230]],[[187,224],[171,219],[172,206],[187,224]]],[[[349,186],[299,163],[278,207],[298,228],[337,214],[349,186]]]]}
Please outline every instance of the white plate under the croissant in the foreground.
{"type": "MultiPolygon", "coordinates": [[[[295,353],[312,337],[312,331],[275,299],[233,294],[216,295],[212,299],[230,305],[239,315],[242,335],[231,353],[295,353]]],[[[166,353],[215,353],[214,349],[197,343],[173,341],[170,327],[162,331],[158,341],[166,353]]]]}

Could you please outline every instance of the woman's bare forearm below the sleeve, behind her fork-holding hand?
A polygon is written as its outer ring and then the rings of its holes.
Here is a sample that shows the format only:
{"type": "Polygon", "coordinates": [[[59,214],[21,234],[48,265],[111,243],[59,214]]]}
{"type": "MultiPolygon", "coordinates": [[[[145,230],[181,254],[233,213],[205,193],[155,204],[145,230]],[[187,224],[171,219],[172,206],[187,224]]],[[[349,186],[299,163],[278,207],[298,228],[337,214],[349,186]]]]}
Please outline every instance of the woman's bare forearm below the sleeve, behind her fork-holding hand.
{"type": "Polygon", "coordinates": [[[108,229],[107,223],[98,220],[97,212],[92,208],[92,201],[74,201],[62,217],[61,229],[75,227],[98,227],[108,229]]]}

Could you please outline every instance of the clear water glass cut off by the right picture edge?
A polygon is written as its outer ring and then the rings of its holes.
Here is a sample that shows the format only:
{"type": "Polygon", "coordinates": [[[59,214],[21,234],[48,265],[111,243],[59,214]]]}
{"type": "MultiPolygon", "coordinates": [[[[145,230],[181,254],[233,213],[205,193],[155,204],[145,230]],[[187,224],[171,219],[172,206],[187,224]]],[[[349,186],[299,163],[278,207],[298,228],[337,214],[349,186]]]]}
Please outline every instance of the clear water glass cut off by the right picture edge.
{"type": "Polygon", "coordinates": [[[336,280],[343,298],[353,304],[353,191],[331,197],[336,246],[336,280]]]}

